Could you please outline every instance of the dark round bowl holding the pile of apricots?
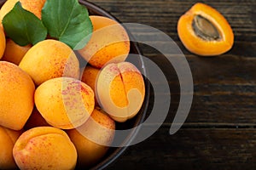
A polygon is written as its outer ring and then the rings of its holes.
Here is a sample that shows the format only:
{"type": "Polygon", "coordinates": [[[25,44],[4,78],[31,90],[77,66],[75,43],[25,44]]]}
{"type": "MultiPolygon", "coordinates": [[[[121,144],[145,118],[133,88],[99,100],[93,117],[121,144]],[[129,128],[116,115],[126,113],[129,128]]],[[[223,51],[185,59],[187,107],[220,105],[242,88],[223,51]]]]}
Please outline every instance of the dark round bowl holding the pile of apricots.
{"type": "MultiPolygon", "coordinates": [[[[6,0],[0,0],[1,7],[5,1],[6,0]]],[[[90,3],[90,2],[84,1],[84,0],[79,0],[79,3],[86,6],[90,15],[102,15],[102,16],[106,16],[110,19],[117,20],[112,14],[108,13],[103,8],[96,6],[94,3],[90,3]]],[[[117,20],[117,21],[119,22],[119,20],[117,20]]],[[[129,31],[128,31],[128,34],[131,36],[129,31]]],[[[138,48],[136,42],[131,42],[130,54],[139,54],[140,56],[142,56],[142,52],[138,48]]],[[[128,56],[128,60],[129,60],[129,56],[128,56]]],[[[132,59],[132,63],[134,65],[137,65],[137,68],[140,71],[142,71],[144,77],[147,75],[145,68],[143,68],[143,65],[144,65],[143,58],[137,57],[136,59],[132,59]]],[[[127,122],[123,122],[123,123],[116,122],[117,129],[129,129],[132,127],[137,127],[140,123],[143,122],[145,115],[146,115],[147,108],[148,108],[148,100],[149,100],[149,82],[148,82],[148,79],[146,79],[146,78],[144,78],[144,81],[145,81],[146,94],[145,94],[145,99],[144,99],[143,106],[142,106],[141,110],[139,111],[137,116],[135,116],[134,118],[132,118],[131,120],[129,120],[127,122]]],[[[127,135],[127,137],[124,140],[125,145],[129,145],[131,143],[131,141],[137,135],[138,131],[139,131],[139,129],[136,128],[129,135],[127,135]]],[[[121,154],[123,154],[123,152],[126,149],[127,149],[126,146],[125,147],[109,148],[108,153],[102,158],[102,160],[90,168],[91,169],[103,169],[105,167],[108,167],[111,163],[113,163],[113,161],[116,161],[119,158],[119,156],[121,156],[121,154]]],[[[81,168],[83,168],[83,167],[77,167],[77,169],[81,169],[81,168]]]]}

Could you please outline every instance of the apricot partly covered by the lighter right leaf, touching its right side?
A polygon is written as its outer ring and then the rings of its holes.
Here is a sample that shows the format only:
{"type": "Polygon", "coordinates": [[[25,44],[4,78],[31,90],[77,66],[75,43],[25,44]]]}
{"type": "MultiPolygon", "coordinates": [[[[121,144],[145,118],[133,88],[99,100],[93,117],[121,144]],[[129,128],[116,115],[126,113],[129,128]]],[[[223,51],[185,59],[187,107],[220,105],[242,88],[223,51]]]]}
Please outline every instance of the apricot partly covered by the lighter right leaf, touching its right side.
{"type": "Polygon", "coordinates": [[[93,32],[79,54],[97,68],[102,68],[109,61],[124,61],[130,51],[130,39],[125,28],[104,16],[90,15],[90,20],[93,32]]]}

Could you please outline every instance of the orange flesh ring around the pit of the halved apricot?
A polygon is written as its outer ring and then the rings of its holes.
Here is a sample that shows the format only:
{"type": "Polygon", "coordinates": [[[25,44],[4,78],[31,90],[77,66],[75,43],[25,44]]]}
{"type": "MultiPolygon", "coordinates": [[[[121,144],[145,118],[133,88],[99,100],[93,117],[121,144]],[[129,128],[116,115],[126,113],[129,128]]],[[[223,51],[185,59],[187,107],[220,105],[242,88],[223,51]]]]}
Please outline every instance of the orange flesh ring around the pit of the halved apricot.
{"type": "Polygon", "coordinates": [[[224,54],[232,48],[234,43],[234,34],[228,21],[216,9],[204,3],[195,3],[180,17],[177,22],[177,33],[185,48],[191,53],[201,56],[224,54]],[[196,14],[200,14],[211,21],[220,32],[222,40],[205,41],[201,37],[197,37],[192,28],[192,22],[196,14]]]}

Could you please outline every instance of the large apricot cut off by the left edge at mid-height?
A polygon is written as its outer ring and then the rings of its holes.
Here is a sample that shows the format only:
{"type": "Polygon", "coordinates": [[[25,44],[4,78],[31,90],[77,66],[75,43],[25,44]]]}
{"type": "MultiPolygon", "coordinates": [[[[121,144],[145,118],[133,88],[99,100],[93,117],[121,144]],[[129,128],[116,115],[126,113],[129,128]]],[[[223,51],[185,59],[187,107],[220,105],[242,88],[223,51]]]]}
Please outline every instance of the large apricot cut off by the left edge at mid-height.
{"type": "Polygon", "coordinates": [[[0,61],[0,125],[14,130],[24,127],[34,106],[35,85],[17,65],[0,61]]]}

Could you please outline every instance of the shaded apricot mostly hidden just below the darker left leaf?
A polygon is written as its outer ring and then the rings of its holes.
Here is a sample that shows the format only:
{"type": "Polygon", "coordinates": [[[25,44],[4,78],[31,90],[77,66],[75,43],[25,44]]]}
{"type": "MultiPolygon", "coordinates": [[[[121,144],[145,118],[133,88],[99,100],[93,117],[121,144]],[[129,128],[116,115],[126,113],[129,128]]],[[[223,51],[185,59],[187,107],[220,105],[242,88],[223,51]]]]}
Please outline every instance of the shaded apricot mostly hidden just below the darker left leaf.
{"type": "Polygon", "coordinates": [[[6,40],[6,48],[3,54],[3,60],[14,63],[15,65],[19,65],[21,59],[31,47],[31,44],[26,46],[20,46],[13,40],[8,38],[6,40]]]}

